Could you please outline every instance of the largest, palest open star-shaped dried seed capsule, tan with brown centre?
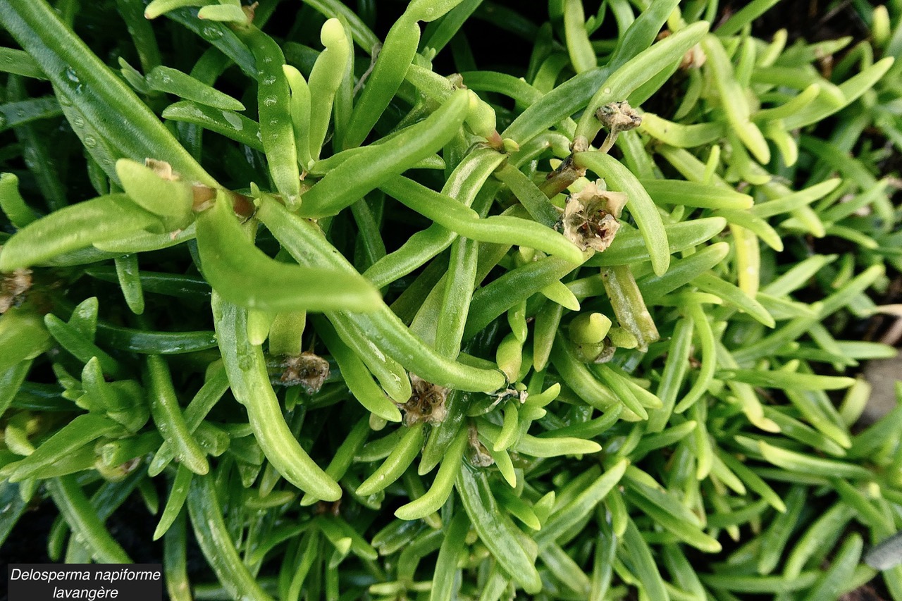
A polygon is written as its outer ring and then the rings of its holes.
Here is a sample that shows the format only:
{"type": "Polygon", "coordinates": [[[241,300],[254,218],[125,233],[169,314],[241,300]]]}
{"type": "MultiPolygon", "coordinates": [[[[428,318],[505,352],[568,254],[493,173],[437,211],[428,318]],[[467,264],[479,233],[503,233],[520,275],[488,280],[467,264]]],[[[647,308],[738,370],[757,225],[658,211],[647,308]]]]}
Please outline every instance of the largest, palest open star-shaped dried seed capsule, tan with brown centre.
{"type": "Polygon", "coordinates": [[[603,252],[620,229],[617,218],[626,200],[626,194],[603,190],[598,181],[586,184],[567,198],[561,217],[564,236],[581,250],[603,252]]]}

